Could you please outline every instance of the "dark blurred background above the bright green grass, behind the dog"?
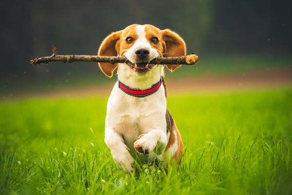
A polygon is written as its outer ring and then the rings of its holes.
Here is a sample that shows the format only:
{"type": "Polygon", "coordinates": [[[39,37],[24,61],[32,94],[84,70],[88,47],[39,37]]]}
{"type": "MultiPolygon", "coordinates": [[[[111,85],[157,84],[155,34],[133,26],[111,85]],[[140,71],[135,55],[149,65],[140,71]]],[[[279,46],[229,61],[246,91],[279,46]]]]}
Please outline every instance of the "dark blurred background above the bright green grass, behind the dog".
{"type": "Polygon", "coordinates": [[[289,85],[291,9],[291,0],[2,1],[0,98],[109,96],[116,76],[97,63],[29,61],[51,56],[51,45],[59,55],[96,55],[107,35],[135,23],[169,28],[199,55],[165,71],[170,93],[289,85]]]}

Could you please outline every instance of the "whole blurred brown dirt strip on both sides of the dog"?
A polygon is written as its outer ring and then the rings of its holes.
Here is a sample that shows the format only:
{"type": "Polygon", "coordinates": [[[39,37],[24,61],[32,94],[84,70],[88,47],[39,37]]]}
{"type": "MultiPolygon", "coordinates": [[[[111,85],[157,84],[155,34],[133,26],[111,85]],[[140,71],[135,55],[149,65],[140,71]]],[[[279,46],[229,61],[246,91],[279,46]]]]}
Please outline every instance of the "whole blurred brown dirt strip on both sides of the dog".
{"type": "MultiPolygon", "coordinates": [[[[247,73],[226,75],[209,75],[201,78],[180,78],[167,80],[167,93],[200,93],[225,92],[231,90],[246,90],[253,88],[277,88],[292,86],[292,67],[281,69],[265,69],[247,73]]],[[[11,94],[0,94],[2,100],[26,98],[96,98],[109,97],[112,85],[78,86],[44,91],[19,91],[11,94]],[[5,98],[4,98],[5,97],[5,98]]]]}

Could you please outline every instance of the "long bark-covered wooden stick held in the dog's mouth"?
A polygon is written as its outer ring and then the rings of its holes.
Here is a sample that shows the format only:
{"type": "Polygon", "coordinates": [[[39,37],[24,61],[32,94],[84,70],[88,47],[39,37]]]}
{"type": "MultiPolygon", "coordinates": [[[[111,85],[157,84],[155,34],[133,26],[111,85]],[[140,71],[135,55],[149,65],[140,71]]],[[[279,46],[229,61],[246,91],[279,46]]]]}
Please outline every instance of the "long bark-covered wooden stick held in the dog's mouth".
{"type": "MultiPolygon", "coordinates": [[[[53,46],[53,45],[52,45],[53,46]]],[[[68,55],[61,56],[57,54],[57,48],[53,46],[53,55],[49,57],[42,57],[30,60],[34,66],[40,63],[50,63],[51,61],[63,61],[72,63],[73,61],[88,61],[88,62],[108,62],[114,63],[127,63],[129,60],[126,57],[107,57],[107,56],[86,56],[86,55],[68,55]]],[[[188,56],[174,57],[174,58],[155,58],[149,64],[187,64],[193,65],[198,61],[197,54],[188,56]]]]}

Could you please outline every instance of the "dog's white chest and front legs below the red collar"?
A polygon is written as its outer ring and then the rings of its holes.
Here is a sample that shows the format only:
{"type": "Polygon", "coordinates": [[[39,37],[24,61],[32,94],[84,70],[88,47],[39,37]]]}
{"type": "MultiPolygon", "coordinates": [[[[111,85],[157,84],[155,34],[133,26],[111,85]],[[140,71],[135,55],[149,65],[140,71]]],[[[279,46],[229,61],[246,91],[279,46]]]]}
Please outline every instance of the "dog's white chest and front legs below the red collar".
{"type": "Polygon", "coordinates": [[[128,154],[134,158],[137,154],[142,163],[147,163],[154,160],[156,151],[153,149],[156,145],[157,154],[163,153],[168,141],[165,114],[163,85],[156,93],[145,98],[129,96],[120,90],[117,84],[114,86],[108,101],[105,142],[119,168],[124,169],[119,166],[122,161],[128,172],[132,172],[133,159],[129,159],[128,154]],[[134,149],[134,142],[141,134],[146,134],[139,141],[143,149],[149,150],[148,155],[136,153],[134,149]]]}

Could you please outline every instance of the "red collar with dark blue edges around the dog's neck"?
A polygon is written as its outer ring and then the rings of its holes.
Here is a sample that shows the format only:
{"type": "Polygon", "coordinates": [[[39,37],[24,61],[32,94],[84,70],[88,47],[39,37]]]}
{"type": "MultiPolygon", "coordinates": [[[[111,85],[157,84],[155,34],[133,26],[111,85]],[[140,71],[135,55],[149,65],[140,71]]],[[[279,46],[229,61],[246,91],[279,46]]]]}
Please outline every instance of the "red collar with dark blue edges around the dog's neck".
{"type": "Polygon", "coordinates": [[[161,83],[162,83],[162,77],[160,78],[160,80],[157,83],[152,85],[151,88],[145,89],[145,90],[132,89],[120,81],[118,81],[118,86],[123,92],[125,92],[126,94],[128,94],[130,96],[135,96],[137,98],[144,98],[146,96],[149,96],[149,95],[157,92],[161,86],[161,83]]]}

